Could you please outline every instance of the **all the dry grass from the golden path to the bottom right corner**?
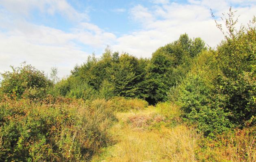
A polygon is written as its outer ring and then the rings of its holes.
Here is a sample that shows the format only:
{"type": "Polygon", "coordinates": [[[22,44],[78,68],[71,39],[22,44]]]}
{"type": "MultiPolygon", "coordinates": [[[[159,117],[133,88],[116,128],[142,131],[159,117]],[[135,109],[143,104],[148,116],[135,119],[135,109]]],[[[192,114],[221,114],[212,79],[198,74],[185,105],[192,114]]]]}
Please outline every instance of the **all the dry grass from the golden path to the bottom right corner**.
{"type": "Polygon", "coordinates": [[[255,126],[208,139],[179,115],[170,103],[117,113],[114,144],[92,162],[256,162],[255,126]]]}

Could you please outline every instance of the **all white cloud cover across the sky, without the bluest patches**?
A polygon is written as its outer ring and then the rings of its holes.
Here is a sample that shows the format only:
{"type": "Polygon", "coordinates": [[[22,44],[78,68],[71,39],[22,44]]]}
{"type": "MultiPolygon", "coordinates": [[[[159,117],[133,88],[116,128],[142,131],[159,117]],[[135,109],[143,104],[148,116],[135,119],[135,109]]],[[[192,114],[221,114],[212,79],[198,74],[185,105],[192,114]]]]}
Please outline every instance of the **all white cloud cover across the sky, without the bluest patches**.
{"type": "MultiPolygon", "coordinates": [[[[76,63],[86,60],[88,53],[82,48],[103,51],[106,45],[111,45],[113,51],[149,58],[158,47],[177,40],[185,32],[192,38],[200,36],[214,47],[223,36],[215,27],[210,8],[219,21],[221,13],[228,12],[231,4],[241,4],[234,10],[241,15],[239,22],[243,24],[255,14],[253,0],[189,0],[188,4],[154,0],[151,8],[137,5],[129,10],[129,18],[141,29],[117,37],[89,23],[86,13],[79,13],[65,0],[0,0],[3,6],[0,8],[0,72],[9,70],[9,65],[18,66],[27,61],[46,72],[56,66],[63,77],[76,63]],[[33,9],[76,19],[76,26],[63,31],[29,23],[23,17],[30,16],[33,9]]],[[[126,9],[113,12],[126,12],[126,9]]]]}

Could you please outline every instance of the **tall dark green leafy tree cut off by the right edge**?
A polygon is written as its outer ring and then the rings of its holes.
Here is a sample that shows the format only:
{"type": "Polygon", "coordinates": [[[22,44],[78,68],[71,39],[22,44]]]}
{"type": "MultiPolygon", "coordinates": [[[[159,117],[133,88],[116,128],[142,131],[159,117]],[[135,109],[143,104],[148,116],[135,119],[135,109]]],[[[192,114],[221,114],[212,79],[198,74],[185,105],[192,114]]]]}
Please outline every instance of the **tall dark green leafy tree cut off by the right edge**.
{"type": "Polygon", "coordinates": [[[256,114],[256,26],[252,25],[237,33],[228,26],[232,33],[218,47],[217,55],[221,69],[216,81],[219,95],[225,96],[223,104],[230,119],[242,125],[256,114]]]}

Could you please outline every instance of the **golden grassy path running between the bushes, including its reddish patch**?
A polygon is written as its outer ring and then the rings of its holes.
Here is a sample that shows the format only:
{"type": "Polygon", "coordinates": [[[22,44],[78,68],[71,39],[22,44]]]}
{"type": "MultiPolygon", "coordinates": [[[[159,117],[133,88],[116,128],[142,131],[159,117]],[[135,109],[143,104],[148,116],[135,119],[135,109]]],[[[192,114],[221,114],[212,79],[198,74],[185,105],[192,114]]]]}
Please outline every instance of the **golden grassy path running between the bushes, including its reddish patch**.
{"type": "Polygon", "coordinates": [[[196,133],[184,125],[165,127],[156,108],[117,113],[111,128],[116,141],[93,162],[193,162],[196,133]]]}

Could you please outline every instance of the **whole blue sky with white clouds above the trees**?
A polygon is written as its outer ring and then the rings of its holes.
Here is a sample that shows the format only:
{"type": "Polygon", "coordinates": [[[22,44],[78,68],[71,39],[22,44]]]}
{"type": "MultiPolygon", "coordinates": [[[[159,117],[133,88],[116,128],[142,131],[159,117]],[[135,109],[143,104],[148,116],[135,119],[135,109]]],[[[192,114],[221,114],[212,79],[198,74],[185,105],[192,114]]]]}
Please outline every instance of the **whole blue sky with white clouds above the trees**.
{"type": "Polygon", "coordinates": [[[61,78],[107,45],[150,58],[184,33],[216,47],[210,9],[222,22],[230,6],[244,25],[256,15],[256,0],[0,0],[0,73],[26,61],[61,78]]]}

